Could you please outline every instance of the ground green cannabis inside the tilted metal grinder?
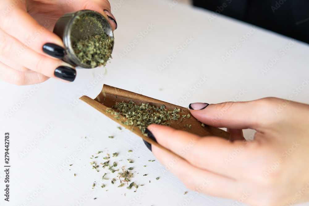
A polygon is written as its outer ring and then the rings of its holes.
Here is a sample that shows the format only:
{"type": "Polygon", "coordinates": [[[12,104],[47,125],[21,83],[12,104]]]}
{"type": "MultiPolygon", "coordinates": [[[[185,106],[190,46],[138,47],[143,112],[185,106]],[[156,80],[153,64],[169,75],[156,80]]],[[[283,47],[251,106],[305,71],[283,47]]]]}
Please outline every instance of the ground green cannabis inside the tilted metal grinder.
{"type": "Polygon", "coordinates": [[[74,32],[94,33],[84,39],[75,39],[71,35],[72,48],[76,57],[83,64],[91,65],[92,68],[106,65],[111,58],[114,39],[105,34],[100,22],[90,16],[80,16],[74,22],[74,32]],[[95,31],[89,31],[89,28],[95,31]]]}

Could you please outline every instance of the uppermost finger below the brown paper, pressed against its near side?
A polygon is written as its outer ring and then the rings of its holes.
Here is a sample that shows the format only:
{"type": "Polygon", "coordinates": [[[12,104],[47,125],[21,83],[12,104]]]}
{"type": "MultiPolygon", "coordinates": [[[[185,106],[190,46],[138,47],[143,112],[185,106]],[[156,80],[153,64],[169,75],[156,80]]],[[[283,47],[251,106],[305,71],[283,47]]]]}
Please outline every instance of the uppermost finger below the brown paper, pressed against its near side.
{"type": "Polygon", "coordinates": [[[163,147],[170,149],[193,166],[230,178],[237,178],[239,165],[246,158],[245,152],[239,153],[232,162],[226,162],[235,149],[244,151],[245,141],[229,142],[219,137],[199,137],[195,134],[175,130],[162,125],[150,125],[148,129],[163,147]],[[228,173],[226,172],[228,171],[228,173]]]}

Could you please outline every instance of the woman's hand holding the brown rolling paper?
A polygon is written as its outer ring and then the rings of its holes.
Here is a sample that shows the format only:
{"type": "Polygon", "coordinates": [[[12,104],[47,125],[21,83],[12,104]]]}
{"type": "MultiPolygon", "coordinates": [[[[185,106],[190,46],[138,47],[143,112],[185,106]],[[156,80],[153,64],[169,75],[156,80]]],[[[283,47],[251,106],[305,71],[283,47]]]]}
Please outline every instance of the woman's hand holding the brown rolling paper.
{"type": "Polygon", "coordinates": [[[229,128],[230,141],[148,127],[160,145],[180,156],[152,146],[158,160],[189,189],[255,206],[309,201],[309,105],[265,98],[193,103],[190,111],[205,124],[229,128]],[[244,140],[246,128],[257,131],[253,141],[244,140]]]}

